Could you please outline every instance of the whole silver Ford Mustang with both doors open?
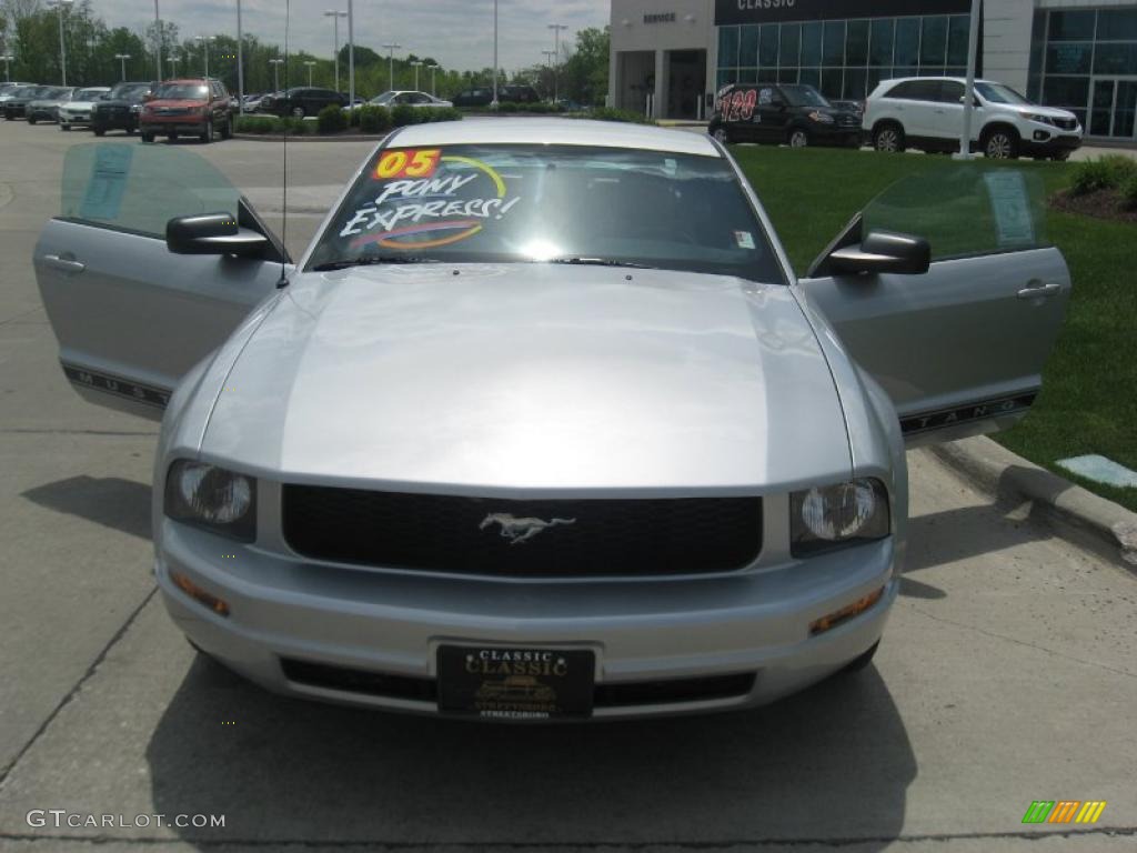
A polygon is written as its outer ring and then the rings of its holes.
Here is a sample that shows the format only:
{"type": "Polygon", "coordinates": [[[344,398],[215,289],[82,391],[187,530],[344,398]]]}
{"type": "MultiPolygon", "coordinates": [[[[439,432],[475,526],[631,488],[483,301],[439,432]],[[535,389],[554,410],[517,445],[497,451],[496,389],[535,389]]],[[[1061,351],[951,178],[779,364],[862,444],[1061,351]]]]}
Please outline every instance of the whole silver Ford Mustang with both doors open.
{"type": "Polygon", "coordinates": [[[902,183],[799,280],[719,143],[557,119],[393,133],[296,264],[196,155],[75,147],[34,263],[78,392],[163,420],[191,643],[489,720],[868,664],[906,446],[1021,417],[1070,291],[1019,172],[902,183]]]}

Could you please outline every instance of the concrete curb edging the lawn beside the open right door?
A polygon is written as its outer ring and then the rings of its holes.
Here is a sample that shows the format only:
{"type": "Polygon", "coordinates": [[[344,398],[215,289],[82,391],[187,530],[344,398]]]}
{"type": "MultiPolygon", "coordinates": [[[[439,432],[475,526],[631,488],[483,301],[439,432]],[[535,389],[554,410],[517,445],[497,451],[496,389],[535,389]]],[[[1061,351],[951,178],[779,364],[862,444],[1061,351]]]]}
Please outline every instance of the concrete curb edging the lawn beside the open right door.
{"type": "Polygon", "coordinates": [[[1137,572],[1137,513],[1039,467],[986,436],[929,449],[994,497],[1031,502],[1061,533],[1137,572]]]}

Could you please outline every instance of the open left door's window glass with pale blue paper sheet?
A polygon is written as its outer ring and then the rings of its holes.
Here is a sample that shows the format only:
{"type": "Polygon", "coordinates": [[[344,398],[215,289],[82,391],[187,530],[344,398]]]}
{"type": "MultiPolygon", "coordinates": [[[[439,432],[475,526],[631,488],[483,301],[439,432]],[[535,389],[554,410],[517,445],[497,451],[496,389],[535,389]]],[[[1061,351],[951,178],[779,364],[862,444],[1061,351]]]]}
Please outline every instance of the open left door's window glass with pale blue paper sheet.
{"type": "Polygon", "coordinates": [[[235,216],[239,199],[229,179],[188,149],[88,142],[64,159],[59,216],[165,240],[171,220],[235,216]]]}

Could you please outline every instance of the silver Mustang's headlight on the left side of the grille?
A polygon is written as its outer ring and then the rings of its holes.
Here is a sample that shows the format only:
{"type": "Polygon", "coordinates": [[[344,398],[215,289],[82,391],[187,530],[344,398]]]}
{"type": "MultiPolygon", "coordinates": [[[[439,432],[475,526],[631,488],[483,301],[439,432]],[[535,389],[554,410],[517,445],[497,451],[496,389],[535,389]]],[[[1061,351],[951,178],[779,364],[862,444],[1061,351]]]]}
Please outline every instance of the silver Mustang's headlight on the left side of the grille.
{"type": "Polygon", "coordinates": [[[166,475],[166,515],[232,539],[257,538],[257,481],[202,462],[179,459],[166,475]]]}

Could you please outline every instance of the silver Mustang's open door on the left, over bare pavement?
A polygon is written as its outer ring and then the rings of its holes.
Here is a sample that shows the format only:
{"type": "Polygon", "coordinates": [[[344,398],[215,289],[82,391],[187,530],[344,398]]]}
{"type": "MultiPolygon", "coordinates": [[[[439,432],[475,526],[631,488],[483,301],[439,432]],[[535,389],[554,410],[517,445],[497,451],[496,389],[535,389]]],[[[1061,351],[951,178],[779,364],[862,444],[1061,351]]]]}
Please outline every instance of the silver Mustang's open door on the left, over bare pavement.
{"type": "Polygon", "coordinates": [[[121,143],[67,152],[60,212],[33,257],[67,379],[92,403],[151,419],[181,376],[275,290],[287,260],[211,164],[181,148],[121,143]],[[202,254],[172,251],[171,221],[194,216],[233,251],[192,241],[180,251],[202,254]]]}

